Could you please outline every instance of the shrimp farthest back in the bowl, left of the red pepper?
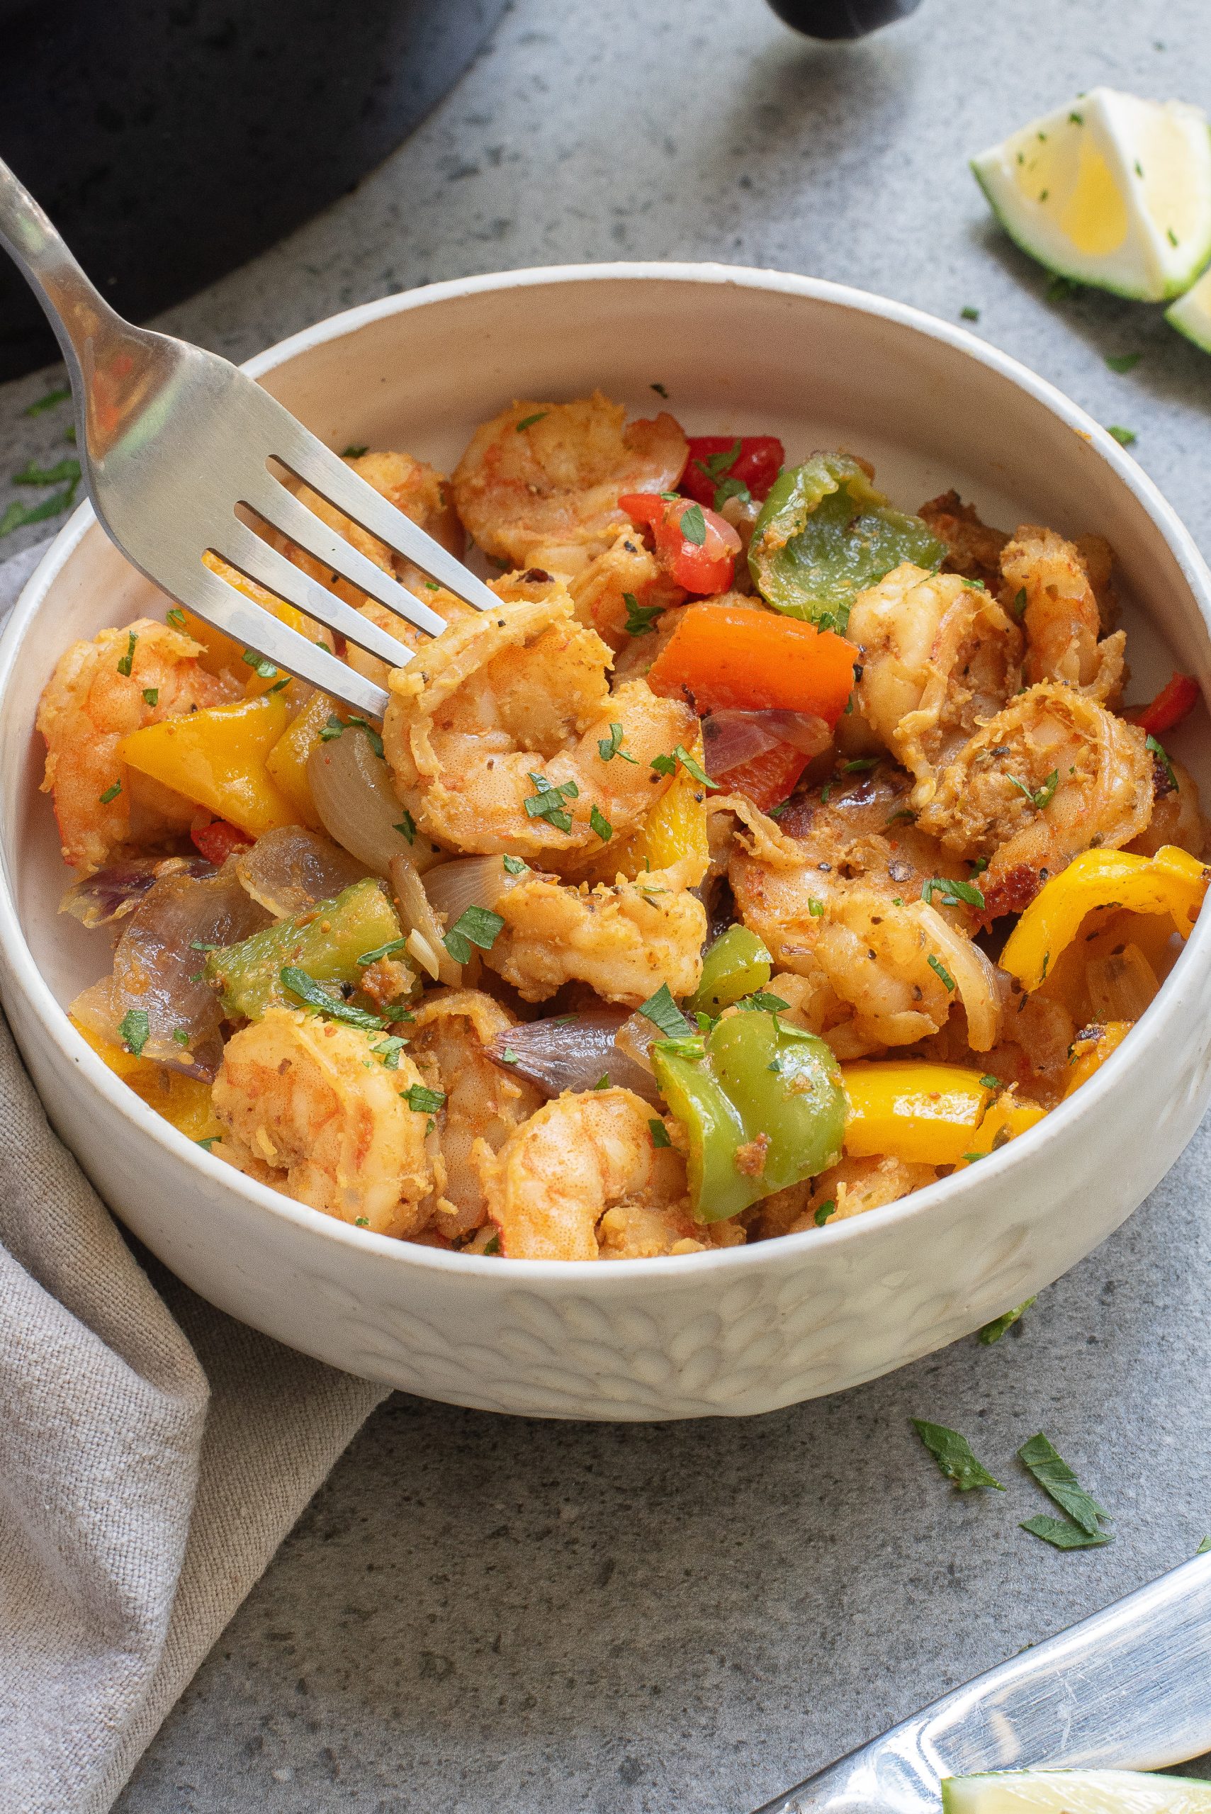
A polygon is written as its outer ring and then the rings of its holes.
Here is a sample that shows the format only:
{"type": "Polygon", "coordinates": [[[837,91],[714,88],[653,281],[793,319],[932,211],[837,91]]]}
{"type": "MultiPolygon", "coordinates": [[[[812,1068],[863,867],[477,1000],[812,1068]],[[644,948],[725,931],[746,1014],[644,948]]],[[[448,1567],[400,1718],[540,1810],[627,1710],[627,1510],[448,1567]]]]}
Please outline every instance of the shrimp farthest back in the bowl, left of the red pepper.
{"type": "Polygon", "coordinates": [[[678,423],[662,410],[624,428],[625,414],[595,390],[575,403],[513,403],[477,428],[451,484],[484,553],[578,573],[629,528],[625,492],[671,492],[689,454],[678,423]]]}

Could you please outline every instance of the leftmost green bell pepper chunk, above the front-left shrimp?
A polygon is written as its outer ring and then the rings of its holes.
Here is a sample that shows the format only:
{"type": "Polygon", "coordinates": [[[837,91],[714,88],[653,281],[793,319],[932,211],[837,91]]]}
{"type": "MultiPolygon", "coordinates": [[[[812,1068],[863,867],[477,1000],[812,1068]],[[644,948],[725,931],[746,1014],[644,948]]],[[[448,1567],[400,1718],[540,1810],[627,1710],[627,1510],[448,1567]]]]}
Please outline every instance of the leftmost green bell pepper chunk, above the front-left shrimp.
{"type": "Polygon", "coordinates": [[[221,945],[207,956],[205,972],[225,1014],[259,1019],[268,1007],[299,1005],[283,989],[283,967],[306,970],[317,983],[359,983],[357,960],[401,938],[395,909],[368,876],[294,920],[266,925],[239,945],[221,945]]]}

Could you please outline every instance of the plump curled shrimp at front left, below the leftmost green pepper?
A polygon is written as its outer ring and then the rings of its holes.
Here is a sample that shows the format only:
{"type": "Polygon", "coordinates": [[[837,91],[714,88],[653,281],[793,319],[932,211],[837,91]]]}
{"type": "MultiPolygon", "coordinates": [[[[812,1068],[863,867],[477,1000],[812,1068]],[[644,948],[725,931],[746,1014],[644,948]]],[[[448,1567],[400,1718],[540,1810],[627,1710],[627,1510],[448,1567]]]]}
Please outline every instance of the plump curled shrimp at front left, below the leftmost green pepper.
{"type": "Polygon", "coordinates": [[[214,1152],[343,1223],[417,1234],[433,1183],[428,1117],[401,1092],[422,1078],[408,1058],[388,1070],[381,1038],[268,1009],[223,1054],[212,1103],[227,1132],[214,1152]]]}

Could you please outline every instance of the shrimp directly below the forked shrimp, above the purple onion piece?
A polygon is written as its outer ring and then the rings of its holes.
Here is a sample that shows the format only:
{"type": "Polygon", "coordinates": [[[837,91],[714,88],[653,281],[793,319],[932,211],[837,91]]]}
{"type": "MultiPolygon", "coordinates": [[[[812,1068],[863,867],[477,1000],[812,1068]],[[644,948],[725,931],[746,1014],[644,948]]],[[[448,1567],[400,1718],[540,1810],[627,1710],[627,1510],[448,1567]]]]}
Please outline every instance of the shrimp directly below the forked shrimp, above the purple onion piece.
{"type": "Polygon", "coordinates": [[[524,1001],[546,1001],[569,981],[589,983],[604,1001],[638,1007],[667,983],[689,996],[702,980],[707,911],[691,892],[691,858],[627,882],[580,887],[555,876],[522,876],[497,902],[504,920],[484,961],[524,1001]]]}

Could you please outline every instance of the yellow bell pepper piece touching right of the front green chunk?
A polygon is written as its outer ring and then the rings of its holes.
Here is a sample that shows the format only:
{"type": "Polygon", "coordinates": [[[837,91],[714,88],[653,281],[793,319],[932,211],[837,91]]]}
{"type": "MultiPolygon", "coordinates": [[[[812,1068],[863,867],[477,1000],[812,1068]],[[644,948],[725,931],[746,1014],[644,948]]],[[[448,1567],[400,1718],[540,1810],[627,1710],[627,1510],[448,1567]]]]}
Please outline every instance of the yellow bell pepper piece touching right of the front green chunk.
{"type": "Polygon", "coordinates": [[[894,1058],[843,1065],[841,1081],[848,1096],[845,1150],[854,1159],[957,1165],[977,1150],[977,1130],[995,1096],[979,1070],[894,1058]]]}

